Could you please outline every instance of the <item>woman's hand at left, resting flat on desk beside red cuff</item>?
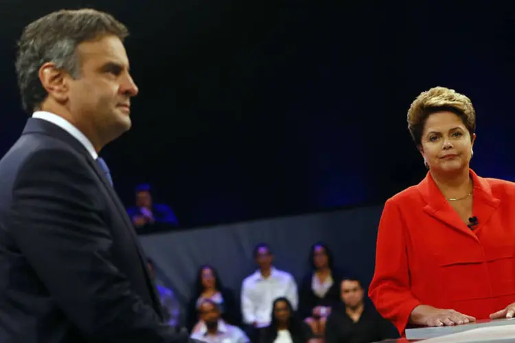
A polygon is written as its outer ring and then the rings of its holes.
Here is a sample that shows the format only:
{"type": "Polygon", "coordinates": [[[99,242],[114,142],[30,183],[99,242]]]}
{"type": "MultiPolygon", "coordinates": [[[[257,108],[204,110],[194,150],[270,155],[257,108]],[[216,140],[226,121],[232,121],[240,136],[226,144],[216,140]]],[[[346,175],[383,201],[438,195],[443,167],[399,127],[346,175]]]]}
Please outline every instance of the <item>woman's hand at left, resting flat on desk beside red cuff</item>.
{"type": "Polygon", "coordinates": [[[453,309],[437,309],[428,305],[419,305],[411,312],[409,321],[411,324],[424,327],[444,327],[475,322],[476,318],[453,309]]]}

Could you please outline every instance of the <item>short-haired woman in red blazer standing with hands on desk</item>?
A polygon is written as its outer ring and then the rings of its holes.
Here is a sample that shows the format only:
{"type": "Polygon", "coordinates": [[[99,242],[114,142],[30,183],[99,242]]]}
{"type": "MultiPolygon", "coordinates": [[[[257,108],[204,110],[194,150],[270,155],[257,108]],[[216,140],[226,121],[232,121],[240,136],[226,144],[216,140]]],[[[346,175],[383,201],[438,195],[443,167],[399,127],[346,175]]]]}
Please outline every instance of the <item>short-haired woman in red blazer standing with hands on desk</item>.
{"type": "Polygon", "coordinates": [[[379,224],[369,296],[404,334],[515,314],[515,184],[469,169],[470,99],[436,87],[408,112],[429,171],[390,198],[379,224]]]}

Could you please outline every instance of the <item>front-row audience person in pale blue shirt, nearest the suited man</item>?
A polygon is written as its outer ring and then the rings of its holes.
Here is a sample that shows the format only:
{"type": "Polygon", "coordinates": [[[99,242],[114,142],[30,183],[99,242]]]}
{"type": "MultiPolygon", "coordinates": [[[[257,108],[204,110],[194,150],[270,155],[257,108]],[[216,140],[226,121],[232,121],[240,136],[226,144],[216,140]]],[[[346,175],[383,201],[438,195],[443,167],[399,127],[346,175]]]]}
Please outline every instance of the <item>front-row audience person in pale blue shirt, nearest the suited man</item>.
{"type": "Polygon", "coordinates": [[[248,343],[249,338],[239,327],[220,318],[220,305],[211,299],[202,299],[198,307],[199,325],[191,335],[206,343],[248,343]]]}

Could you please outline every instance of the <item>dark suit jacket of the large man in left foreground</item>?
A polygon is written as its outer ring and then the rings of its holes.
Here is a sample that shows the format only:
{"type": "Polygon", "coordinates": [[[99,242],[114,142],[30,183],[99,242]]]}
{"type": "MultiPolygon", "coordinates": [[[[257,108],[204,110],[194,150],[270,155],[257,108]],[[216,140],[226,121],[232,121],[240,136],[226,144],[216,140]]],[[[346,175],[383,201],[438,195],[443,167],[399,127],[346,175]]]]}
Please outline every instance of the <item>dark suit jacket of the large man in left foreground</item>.
{"type": "Polygon", "coordinates": [[[0,161],[0,342],[181,342],[91,154],[29,119],[0,161]]]}

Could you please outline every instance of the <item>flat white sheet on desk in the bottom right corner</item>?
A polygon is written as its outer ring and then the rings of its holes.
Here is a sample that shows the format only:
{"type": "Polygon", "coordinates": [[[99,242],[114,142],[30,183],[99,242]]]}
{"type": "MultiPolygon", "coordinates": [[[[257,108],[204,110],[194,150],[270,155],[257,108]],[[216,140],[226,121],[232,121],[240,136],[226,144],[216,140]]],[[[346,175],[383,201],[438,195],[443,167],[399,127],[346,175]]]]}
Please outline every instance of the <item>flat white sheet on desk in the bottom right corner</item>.
{"type": "Polygon", "coordinates": [[[478,342],[515,342],[515,326],[480,327],[459,333],[452,333],[423,340],[424,343],[478,343],[478,342]]]}

